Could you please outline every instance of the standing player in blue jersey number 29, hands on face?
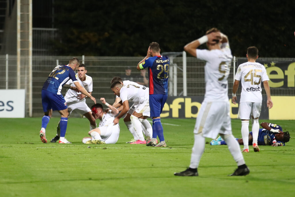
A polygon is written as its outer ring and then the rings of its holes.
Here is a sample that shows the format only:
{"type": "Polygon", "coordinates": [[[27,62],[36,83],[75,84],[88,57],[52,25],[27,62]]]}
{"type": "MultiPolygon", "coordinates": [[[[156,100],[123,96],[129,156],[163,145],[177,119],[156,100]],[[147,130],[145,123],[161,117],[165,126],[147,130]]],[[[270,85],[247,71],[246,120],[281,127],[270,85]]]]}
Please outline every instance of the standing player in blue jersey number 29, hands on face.
{"type": "Polygon", "coordinates": [[[160,45],[156,42],[150,43],[147,55],[137,64],[137,70],[148,68],[153,137],[148,141],[147,146],[166,146],[160,114],[168,97],[169,64],[169,57],[160,55],[160,45]],[[157,136],[160,140],[159,144],[156,142],[157,136]]]}

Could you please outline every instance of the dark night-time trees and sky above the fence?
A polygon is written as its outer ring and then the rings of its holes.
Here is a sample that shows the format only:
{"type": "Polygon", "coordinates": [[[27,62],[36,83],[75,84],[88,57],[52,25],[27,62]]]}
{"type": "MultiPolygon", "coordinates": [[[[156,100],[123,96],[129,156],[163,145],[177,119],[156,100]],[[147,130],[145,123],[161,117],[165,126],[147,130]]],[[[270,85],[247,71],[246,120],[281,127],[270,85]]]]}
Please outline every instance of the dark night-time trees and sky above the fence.
{"type": "Polygon", "coordinates": [[[145,56],[153,41],[162,53],[183,51],[217,27],[234,56],[256,46],[260,57],[294,57],[294,1],[58,0],[38,9],[40,4],[33,1],[33,26],[58,29],[58,39],[48,43],[56,55],[145,56]]]}

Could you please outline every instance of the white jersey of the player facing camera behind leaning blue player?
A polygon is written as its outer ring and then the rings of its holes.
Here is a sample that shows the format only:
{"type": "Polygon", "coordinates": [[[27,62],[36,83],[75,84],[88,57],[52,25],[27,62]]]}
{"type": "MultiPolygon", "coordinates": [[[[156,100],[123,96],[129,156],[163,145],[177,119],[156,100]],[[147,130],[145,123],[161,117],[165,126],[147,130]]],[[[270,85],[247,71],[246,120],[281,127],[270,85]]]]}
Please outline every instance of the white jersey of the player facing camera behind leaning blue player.
{"type": "MultiPolygon", "coordinates": [[[[79,81],[81,86],[84,87],[87,92],[92,92],[92,88],[93,88],[92,77],[88,75],[85,75],[85,77],[86,77],[85,81],[82,82],[76,74],[76,79],[79,81]]],[[[72,87],[76,87],[71,79],[66,84],[72,87]]],[[[86,102],[85,98],[83,98],[82,100],[78,100],[77,99],[78,94],[82,94],[82,93],[68,89],[67,92],[65,93],[65,101],[66,102],[86,102]]]]}

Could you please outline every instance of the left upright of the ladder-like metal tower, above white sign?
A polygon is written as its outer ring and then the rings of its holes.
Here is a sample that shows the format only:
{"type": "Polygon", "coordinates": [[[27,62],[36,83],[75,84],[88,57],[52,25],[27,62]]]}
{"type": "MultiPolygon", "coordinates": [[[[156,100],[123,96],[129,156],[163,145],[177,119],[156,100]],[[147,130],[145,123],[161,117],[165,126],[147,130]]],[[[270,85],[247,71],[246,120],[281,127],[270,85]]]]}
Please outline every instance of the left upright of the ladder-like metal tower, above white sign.
{"type": "Polygon", "coordinates": [[[20,89],[20,1],[17,0],[17,89],[20,89]]]}

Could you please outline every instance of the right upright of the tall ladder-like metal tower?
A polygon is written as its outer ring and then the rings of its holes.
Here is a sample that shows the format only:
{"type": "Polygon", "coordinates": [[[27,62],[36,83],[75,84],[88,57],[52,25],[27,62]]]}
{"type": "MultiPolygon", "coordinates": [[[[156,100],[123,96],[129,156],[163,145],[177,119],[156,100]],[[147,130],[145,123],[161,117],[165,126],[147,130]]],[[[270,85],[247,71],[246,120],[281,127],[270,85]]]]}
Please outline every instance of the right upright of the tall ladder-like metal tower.
{"type": "Polygon", "coordinates": [[[32,0],[29,0],[29,117],[33,116],[32,0]]]}

